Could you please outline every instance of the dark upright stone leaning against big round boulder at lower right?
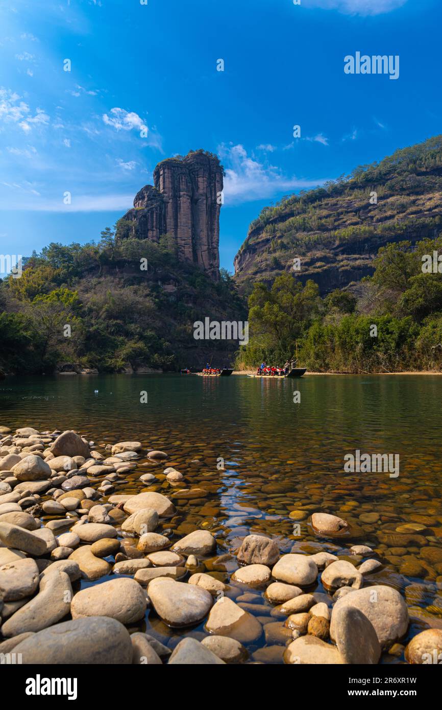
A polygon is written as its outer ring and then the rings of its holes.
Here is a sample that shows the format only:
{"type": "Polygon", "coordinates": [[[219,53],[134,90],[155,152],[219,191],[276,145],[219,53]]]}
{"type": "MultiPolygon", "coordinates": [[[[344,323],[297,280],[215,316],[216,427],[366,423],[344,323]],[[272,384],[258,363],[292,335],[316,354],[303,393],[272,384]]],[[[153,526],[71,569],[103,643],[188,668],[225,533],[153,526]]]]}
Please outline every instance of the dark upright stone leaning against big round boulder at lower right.
{"type": "Polygon", "coordinates": [[[360,609],[341,606],[333,611],[333,633],[344,663],[375,664],[381,648],[375,628],[360,609]]]}

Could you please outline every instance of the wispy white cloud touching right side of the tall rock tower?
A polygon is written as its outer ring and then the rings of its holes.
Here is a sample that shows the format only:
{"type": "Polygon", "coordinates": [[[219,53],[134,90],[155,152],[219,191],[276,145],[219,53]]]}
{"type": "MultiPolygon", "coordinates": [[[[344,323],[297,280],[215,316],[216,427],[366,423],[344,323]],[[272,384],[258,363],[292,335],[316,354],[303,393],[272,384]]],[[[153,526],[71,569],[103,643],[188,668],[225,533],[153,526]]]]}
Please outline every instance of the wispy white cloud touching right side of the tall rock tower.
{"type": "Polygon", "coordinates": [[[282,175],[279,168],[266,166],[249,158],[241,145],[222,144],[218,153],[226,170],[224,178],[225,204],[238,204],[250,200],[263,200],[278,192],[316,187],[325,180],[299,180],[282,175]]]}

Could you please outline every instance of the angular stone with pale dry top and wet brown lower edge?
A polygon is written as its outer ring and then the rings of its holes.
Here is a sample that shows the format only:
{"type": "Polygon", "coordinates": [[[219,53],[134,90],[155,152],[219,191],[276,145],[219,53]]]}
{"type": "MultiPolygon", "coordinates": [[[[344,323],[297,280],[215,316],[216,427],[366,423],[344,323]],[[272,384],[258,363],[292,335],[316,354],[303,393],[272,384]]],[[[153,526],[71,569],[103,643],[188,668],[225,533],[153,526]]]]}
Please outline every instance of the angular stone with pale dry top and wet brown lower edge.
{"type": "Polygon", "coordinates": [[[209,633],[234,638],[239,643],[254,643],[263,633],[259,621],[227,596],[211,608],[204,627],[209,633]]]}

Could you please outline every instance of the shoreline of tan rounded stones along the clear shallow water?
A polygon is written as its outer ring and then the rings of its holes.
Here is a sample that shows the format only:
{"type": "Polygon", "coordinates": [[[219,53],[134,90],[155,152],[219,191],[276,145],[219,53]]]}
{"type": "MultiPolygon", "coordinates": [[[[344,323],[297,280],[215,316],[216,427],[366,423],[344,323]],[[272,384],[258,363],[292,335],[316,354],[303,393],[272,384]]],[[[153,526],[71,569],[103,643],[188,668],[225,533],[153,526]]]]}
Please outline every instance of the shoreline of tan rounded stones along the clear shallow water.
{"type": "MultiPolygon", "coordinates": [[[[277,540],[247,535],[226,554],[204,523],[175,532],[175,503],[201,489],[187,488],[173,466],[143,473],[143,457],[156,469],[166,452],[143,452],[140,442],[99,447],[70,430],[0,427],[0,436],[2,659],[438,662],[442,628],[402,643],[409,609],[397,589],[370,581],[382,567],[371,547],[346,537],[346,555],[282,554],[277,540]],[[133,491],[118,493],[128,474],[139,474],[133,491]],[[149,490],[159,480],[173,495],[149,490]]],[[[348,533],[346,520],[321,512],[311,527],[319,537],[348,533]]]]}

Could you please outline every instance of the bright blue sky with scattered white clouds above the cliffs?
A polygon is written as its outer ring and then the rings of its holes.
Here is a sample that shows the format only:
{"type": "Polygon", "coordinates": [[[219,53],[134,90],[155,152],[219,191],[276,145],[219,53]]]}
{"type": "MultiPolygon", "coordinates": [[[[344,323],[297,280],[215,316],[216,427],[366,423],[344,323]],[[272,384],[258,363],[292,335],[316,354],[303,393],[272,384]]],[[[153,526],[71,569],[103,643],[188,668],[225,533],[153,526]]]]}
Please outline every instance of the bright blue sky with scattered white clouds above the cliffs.
{"type": "Polygon", "coordinates": [[[3,0],[0,252],[98,240],[159,160],[204,148],[232,270],[265,205],[442,132],[441,26],[440,0],[3,0]],[[346,75],[356,51],[399,78],[346,75]]]}

